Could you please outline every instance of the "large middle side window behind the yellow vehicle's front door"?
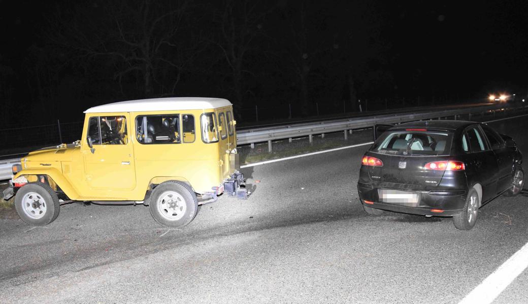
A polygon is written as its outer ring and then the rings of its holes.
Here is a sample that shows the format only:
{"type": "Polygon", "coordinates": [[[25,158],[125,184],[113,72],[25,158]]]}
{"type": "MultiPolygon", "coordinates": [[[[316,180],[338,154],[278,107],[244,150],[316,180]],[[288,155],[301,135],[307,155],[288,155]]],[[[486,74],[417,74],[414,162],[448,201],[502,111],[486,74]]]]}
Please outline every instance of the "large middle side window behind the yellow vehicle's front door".
{"type": "Polygon", "coordinates": [[[136,138],[142,144],[180,143],[180,114],[137,116],[136,138]]]}

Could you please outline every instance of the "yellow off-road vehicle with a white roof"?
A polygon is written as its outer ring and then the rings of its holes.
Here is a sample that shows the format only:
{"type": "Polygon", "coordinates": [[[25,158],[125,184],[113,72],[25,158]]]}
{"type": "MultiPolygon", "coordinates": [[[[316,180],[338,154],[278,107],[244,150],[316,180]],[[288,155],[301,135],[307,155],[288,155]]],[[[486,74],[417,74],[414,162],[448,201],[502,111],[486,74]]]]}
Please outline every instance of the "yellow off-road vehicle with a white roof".
{"type": "Polygon", "coordinates": [[[4,199],[16,195],[24,222],[46,225],[62,201],[89,201],[143,203],[157,222],[182,226],[223,192],[247,198],[228,100],[134,100],[84,113],[82,140],[31,152],[13,166],[4,199]]]}

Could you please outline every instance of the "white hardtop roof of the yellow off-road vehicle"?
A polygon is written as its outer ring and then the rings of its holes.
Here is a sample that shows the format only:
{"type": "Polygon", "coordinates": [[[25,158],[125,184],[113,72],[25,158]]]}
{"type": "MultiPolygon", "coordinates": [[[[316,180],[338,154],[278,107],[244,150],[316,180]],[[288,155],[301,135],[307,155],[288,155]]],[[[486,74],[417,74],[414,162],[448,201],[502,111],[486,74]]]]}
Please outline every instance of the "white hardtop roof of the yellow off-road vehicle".
{"type": "Polygon", "coordinates": [[[169,97],[108,103],[90,107],[84,113],[201,110],[228,105],[231,105],[231,102],[221,98],[169,97]]]}

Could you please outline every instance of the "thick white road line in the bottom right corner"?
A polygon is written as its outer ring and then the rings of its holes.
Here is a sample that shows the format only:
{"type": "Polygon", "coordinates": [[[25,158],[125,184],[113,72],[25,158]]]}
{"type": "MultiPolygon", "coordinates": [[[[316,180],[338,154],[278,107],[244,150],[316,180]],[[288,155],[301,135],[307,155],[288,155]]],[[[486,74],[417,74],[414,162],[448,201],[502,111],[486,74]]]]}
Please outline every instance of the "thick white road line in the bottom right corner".
{"type": "Polygon", "coordinates": [[[475,287],[459,304],[491,303],[528,267],[528,243],[475,287]]]}

